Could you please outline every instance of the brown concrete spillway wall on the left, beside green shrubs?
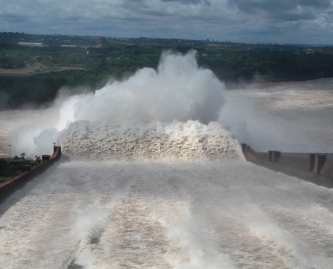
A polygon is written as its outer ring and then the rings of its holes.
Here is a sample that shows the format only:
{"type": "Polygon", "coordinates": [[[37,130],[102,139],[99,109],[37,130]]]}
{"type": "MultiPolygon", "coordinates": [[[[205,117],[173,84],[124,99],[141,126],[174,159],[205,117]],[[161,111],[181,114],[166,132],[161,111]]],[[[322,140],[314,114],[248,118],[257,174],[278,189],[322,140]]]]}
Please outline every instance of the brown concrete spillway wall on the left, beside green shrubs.
{"type": "Polygon", "coordinates": [[[22,174],[10,179],[0,185],[0,203],[2,203],[10,194],[24,186],[25,183],[32,180],[34,177],[43,173],[49,166],[60,159],[61,147],[55,146],[53,155],[43,155],[43,161],[35,166],[25,166],[22,174]]]}

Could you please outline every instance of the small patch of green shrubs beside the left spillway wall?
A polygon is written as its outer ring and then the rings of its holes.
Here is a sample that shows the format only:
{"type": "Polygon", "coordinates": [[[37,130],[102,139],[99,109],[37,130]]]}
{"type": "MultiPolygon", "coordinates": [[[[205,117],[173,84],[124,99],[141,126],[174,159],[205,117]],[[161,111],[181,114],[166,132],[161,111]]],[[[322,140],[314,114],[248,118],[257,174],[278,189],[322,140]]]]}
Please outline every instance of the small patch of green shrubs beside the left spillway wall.
{"type": "Polygon", "coordinates": [[[24,165],[36,165],[42,161],[40,156],[35,156],[36,159],[32,160],[25,158],[25,155],[25,153],[21,153],[20,157],[0,158],[0,184],[21,174],[24,165]]]}

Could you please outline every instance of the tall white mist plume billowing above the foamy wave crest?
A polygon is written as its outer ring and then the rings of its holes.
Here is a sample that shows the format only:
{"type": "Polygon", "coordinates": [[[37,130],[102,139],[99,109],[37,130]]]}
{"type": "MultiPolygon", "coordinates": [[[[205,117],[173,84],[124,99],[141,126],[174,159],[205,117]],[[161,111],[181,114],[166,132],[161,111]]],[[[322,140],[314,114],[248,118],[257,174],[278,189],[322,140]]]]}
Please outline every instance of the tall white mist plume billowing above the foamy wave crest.
{"type": "Polygon", "coordinates": [[[218,119],[224,92],[224,83],[211,70],[198,67],[196,51],[165,51],[157,70],[139,69],[95,93],[59,96],[42,123],[20,133],[18,144],[26,152],[45,152],[70,123],[82,120],[120,123],[136,119],[148,124],[176,119],[208,124],[218,119]]]}

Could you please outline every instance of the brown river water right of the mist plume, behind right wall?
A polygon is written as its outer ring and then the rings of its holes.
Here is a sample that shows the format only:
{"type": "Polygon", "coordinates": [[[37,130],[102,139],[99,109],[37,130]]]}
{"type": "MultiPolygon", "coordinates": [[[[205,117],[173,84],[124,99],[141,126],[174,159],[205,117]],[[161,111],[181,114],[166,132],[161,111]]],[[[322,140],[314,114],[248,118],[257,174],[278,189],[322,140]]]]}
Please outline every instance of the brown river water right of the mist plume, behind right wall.
{"type": "Polygon", "coordinates": [[[333,79],[227,91],[221,120],[257,150],[333,152],[333,79]]]}

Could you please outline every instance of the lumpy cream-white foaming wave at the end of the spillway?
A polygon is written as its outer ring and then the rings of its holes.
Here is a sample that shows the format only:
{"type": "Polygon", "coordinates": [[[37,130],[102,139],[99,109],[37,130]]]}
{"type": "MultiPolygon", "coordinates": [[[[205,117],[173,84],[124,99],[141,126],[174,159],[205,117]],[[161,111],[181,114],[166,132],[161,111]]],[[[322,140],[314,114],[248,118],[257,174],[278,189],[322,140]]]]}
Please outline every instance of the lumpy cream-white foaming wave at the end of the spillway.
{"type": "Polygon", "coordinates": [[[63,153],[75,158],[126,160],[237,159],[239,144],[217,122],[199,121],[118,124],[77,121],[60,136],[63,153]]]}

